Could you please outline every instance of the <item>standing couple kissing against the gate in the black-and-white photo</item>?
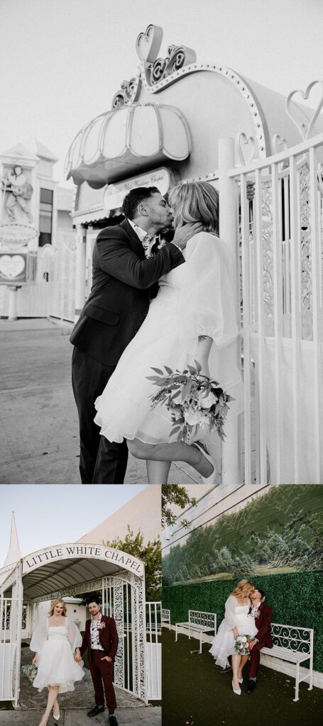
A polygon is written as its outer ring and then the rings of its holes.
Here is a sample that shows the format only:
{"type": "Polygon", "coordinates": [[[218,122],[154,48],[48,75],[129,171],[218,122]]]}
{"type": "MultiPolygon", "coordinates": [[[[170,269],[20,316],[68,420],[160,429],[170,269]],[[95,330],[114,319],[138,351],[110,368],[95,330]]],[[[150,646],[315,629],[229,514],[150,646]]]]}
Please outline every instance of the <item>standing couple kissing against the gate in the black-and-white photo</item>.
{"type": "Polygon", "coordinates": [[[129,450],[146,461],[148,484],[167,484],[173,461],[213,484],[218,433],[196,425],[189,443],[178,441],[166,407],[151,409],[156,387],[149,377],[153,367],[181,372],[197,361],[200,375],[233,399],[227,420],[243,409],[218,191],[192,181],[166,200],[156,187],[137,187],[122,211],[121,224],[97,235],[92,290],[71,334],[81,481],[122,484],[129,450]],[[172,242],[160,241],[172,224],[172,242]]]}

